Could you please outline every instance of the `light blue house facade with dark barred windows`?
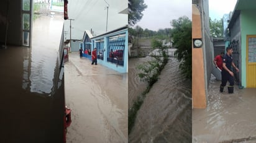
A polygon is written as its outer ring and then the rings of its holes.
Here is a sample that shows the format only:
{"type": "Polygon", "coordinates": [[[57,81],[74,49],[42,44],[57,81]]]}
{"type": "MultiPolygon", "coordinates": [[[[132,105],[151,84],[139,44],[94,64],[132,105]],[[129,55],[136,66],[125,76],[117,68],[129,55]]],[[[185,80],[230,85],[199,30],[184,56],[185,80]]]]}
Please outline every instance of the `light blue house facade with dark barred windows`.
{"type": "MultiPolygon", "coordinates": [[[[124,26],[93,37],[85,31],[80,47],[85,51],[97,48],[98,63],[121,73],[128,72],[128,27],[124,26]]],[[[84,57],[91,59],[88,54],[84,57]]]]}

